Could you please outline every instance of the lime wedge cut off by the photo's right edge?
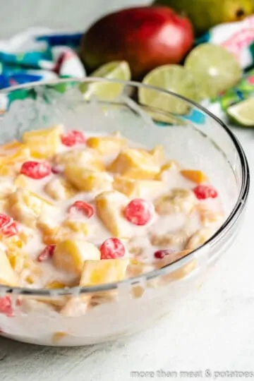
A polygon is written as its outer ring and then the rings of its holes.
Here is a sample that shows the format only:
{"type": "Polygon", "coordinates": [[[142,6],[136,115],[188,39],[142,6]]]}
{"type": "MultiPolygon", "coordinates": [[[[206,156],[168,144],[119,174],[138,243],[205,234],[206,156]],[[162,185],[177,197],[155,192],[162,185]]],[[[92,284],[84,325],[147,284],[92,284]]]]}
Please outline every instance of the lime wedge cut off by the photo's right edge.
{"type": "Polygon", "coordinates": [[[230,106],[226,112],[241,126],[254,127],[254,97],[230,106]]]}

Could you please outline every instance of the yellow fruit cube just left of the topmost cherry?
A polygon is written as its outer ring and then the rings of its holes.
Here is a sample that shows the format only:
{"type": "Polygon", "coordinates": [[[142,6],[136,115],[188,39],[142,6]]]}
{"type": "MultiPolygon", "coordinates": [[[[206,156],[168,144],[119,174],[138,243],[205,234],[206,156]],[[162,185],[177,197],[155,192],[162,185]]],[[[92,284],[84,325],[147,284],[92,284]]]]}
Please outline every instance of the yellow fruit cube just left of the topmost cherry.
{"type": "Polygon", "coordinates": [[[61,148],[63,126],[54,126],[44,130],[33,130],[23,133],[23,142],[30,148],[36,158],[52,157],[61,148]]]}

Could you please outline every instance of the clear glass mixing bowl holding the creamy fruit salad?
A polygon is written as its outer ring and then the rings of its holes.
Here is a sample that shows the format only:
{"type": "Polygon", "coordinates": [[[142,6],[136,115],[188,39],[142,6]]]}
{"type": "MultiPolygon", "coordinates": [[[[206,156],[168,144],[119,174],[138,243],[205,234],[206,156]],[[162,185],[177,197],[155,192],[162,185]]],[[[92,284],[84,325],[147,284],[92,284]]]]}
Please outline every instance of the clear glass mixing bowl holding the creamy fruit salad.
{"type": "Polygon", "coordinates": [[[51,290],[0,285],[0,298],[7,296],[5,301],[13,310],[0,313],[4,337],[42,345],[80,346],[138,332],[197,290],[210,267],[234,241],[248,198],[248,163],[234,134],[202,107],[140,83],[85,78],[1,92],[0,108],[0,143],[19,138],[28,130],[63,123],[67,128],[97,133],[120,131],[151,148],[162,144],[169,158],[208,174],[226,212],[224,224],[200,248],[160,270],[117,284],[51,290]],[[140,89],[150,92],[150,104],[138,102],[140,89]],[[67,317],[59,310],[70,298],[73,315],[67,317]],[[92,301],[88,309],[87,298],[92,301]]]}

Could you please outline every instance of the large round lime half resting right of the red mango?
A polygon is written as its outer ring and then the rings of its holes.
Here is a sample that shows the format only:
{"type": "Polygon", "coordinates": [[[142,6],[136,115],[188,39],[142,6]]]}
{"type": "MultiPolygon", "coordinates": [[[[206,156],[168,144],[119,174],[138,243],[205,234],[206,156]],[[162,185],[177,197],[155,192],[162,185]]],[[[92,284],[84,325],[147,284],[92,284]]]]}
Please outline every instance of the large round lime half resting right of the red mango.
{"type": "Polygon", "coordinates": [[[236,85],[242,76],[233,54],[214,44],[200,44],[188,54],[184,66],[190,70],[200,87],[202,98],[214,98],[236,85]]]}

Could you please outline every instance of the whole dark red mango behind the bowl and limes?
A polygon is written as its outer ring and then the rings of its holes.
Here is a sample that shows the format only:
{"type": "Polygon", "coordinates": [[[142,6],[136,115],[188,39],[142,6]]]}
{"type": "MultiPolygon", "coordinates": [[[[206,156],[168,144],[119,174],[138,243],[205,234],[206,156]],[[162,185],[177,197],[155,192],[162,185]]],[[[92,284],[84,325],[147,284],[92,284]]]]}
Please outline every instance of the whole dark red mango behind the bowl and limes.
{"type": "Polygon", "coordinates": [[[97,20],[83,35],[80,54],[90,70],[109,61],[128,61],[138,79],[157,66],[179,63],[193,40],[191,22],[171,8],[126,8],[97,20]]]}

